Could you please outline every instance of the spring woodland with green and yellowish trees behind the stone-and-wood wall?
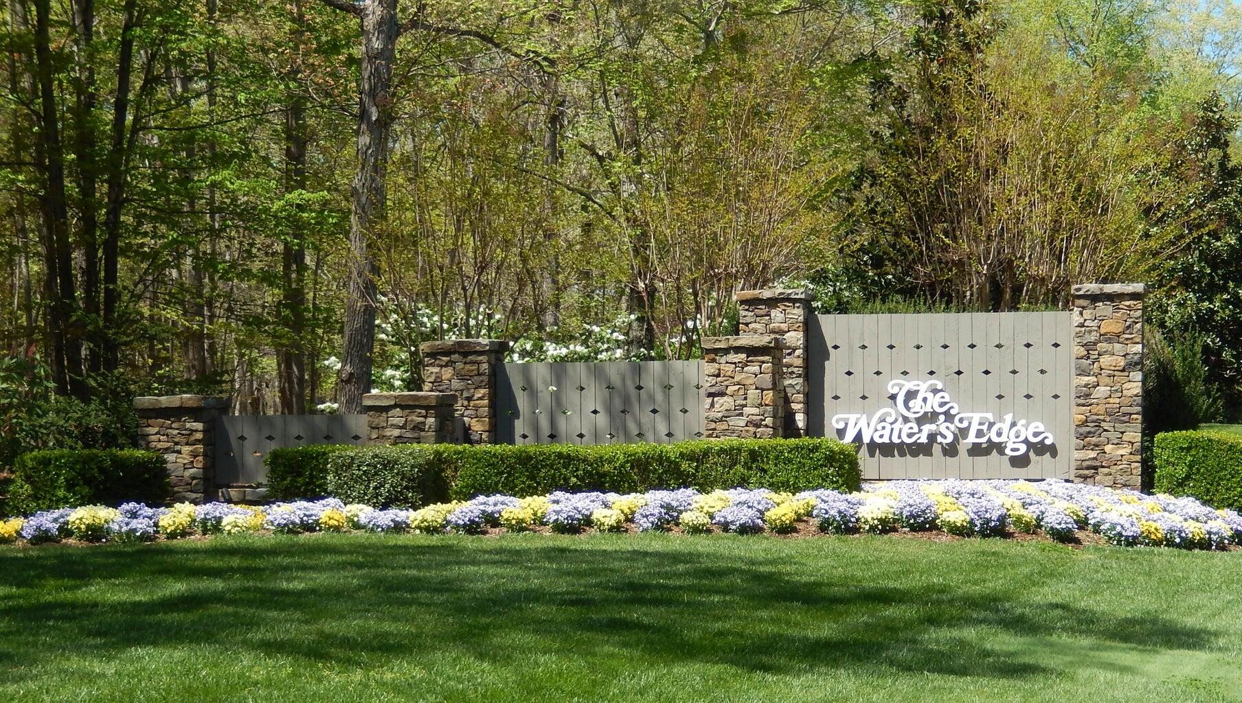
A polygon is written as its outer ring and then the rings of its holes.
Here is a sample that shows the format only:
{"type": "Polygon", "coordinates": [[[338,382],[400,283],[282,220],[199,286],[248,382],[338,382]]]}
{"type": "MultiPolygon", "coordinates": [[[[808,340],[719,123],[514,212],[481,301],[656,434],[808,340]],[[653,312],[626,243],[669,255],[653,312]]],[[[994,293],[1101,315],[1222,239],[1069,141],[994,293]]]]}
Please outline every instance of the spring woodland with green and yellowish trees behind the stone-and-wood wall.
{"type": "Polygon", "coordinates": [[[127,443],[135,394],[356,411],[430,339],[696,358],[770,286],[1145,282],[1149,429],[1242,405],[1230,1],[7,0],[4,31],[0,469],[127,443]]]}

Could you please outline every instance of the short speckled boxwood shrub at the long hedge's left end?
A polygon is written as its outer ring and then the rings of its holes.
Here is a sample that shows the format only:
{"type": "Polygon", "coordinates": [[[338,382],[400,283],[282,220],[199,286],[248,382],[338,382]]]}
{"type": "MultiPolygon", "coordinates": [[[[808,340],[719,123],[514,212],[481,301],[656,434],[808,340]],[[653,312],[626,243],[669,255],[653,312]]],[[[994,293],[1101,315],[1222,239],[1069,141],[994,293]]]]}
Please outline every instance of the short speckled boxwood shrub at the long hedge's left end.
{"type": "Polygon", "coordinates": [[[436,452],[420,445],[332,452],[328,493],[345,503],[417,508],[448,497],[436,452]]]}

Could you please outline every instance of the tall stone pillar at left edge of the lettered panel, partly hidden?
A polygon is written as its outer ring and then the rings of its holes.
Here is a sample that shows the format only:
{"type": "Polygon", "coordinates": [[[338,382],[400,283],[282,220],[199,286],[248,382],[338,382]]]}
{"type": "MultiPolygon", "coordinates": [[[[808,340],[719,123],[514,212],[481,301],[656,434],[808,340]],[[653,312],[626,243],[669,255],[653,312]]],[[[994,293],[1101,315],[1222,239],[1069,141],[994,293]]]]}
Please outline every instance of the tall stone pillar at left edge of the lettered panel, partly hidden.
{"type": "Polygon", "coordinates": [[[811,294],[801,288],[740,291],[738,334],[770,334],[781,340],[785,437],[806,436],[806,325],[811,294]]]}

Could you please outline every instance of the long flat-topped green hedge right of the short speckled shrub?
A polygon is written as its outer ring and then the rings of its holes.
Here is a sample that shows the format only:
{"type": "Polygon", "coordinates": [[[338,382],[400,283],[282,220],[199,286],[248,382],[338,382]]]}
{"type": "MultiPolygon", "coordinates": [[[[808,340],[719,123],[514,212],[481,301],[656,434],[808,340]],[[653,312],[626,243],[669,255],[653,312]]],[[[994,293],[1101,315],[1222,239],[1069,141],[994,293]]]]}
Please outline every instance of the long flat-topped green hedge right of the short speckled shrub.
{"type": "Polygon", "coordinates": [[[431,448],[452,496],[553,491],[763,486],[771,491],[858,488],[857,450],[837,440],[704,440],[671,445],[492,445],[431,448]]]}

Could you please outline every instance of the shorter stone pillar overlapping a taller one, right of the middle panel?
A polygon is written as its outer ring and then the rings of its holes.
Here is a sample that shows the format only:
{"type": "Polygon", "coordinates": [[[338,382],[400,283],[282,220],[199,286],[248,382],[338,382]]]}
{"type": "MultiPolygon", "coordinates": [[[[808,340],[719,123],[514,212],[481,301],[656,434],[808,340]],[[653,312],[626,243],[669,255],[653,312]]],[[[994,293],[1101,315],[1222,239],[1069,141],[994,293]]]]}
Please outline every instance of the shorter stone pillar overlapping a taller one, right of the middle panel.
{"type": "Polygon", "coordinates": [[[703,338],[704,437],[784,436],[781,358],[775,335],[703,338]]]}

